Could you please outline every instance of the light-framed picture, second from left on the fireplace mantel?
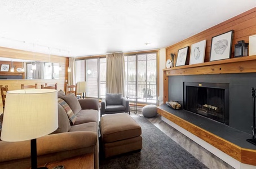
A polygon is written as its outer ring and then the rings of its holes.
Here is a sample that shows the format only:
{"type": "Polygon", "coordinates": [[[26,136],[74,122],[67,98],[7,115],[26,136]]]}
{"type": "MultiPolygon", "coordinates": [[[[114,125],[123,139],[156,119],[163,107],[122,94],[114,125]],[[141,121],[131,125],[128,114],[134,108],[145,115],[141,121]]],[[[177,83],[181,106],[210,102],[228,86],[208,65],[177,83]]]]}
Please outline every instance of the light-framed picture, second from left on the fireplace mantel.
{"type": "Polygon", "coordinates": [[[191,45],[189,65],[204,63],[206,40],[191,45]]]}

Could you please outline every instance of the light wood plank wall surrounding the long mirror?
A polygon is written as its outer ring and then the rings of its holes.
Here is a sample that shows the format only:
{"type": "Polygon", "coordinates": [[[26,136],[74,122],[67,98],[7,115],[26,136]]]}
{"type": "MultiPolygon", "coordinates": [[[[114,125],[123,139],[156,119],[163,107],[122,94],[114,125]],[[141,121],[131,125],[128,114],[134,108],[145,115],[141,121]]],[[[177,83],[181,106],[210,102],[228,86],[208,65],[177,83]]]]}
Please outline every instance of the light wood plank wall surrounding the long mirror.
{"type": "MultiPolygon", "coordinates": [[[[44,62],[49,61],[48,54],[41,54],[41,53],[35,52],[35,56],[33,56],[33,52],[30,52],[30,51],[15,50],[12,48],[5,48],[5,47],[0,47],[0,57],[7,57],[10,59],[24,59],[24,60],[33,60],[33,58],[35,57],[36,61],[44,61],[44,62]]],[[[55,56],[55,55],[50,55],[50,62],[51,63],[60,63],[62,70],[60,71],[59,79],[0,80],[0,84],[2,84],[3,86],[8,85],[9,90],[19,90],[19,89],[21,89],[22,83],[25,85],[37,83],[38,87],[41,87],[41,84],[45,84],[45,83],[48,83],[49,85],[58,83],[58,90],[64,91],[65,79],[68,79],[68,57],[59,57],[59,56],[55,56]]],[[[2,99],[0,100],[0,106],[2,108],[2,99]]],[[[0,114],[1,114],[1,112],[2,111],[0,109],[0,114]]]]}

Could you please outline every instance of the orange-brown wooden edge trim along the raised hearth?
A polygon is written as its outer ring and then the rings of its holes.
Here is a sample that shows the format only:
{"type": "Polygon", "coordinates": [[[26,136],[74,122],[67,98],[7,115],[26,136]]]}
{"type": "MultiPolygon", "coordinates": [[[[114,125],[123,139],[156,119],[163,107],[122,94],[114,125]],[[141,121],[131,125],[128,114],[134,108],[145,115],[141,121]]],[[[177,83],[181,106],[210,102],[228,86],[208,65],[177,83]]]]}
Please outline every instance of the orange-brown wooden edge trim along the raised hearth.
{"type": "Polygon", "coordinates": [[[188,121],[185,121],[184,119],[179,118],[174,114],[166,112],[163,109],[158,108],[157,113],[169,119],[171,122],[174,122],[178,126],[184,128],[185,130],[191,132],[193,135],[200,137],[200,139],[213,145],[215,148],[218,148],[222,152],[237,159],[237,161],[256,166],[256,150],[241,148],[240,146],[230,143],[229,141],[224,140],[221,137],[196,126],[195,124],[189,123],[188,121]]]}

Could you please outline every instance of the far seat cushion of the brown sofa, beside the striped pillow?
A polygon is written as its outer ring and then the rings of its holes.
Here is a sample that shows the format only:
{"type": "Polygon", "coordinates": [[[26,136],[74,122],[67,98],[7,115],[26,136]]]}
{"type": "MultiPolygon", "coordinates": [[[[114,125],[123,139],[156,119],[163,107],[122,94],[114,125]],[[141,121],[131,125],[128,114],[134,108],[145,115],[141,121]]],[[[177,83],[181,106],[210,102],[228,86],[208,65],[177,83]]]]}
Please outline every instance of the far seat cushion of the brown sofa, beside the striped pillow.
{"type": "Polygon", "coordinates": [[[88,122],[97,122],[98,123],[98,110],[86,109],[81,110],[76,114],[76,122],[74,125],[88,123],[88,122]]]}

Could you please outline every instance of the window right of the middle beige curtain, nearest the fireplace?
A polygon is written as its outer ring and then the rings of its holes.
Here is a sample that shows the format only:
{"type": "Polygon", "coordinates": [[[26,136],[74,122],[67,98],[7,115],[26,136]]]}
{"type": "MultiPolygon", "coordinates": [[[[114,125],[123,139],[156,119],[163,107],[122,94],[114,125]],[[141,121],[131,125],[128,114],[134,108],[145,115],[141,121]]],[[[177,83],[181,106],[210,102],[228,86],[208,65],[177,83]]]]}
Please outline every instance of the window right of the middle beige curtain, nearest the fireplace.
{"type": "Polygon", "coordinates": [[[157,53],[125,56],[126,96],[138,96],[140,103],[156,104],[157,53]]]}

